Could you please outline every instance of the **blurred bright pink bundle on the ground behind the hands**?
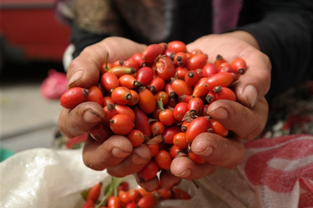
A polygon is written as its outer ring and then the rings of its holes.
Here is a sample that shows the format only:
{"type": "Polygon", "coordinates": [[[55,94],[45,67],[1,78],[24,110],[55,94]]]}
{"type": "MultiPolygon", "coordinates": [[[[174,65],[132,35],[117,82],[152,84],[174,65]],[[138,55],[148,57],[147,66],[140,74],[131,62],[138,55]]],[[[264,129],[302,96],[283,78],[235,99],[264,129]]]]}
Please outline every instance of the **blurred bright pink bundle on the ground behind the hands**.
{"type": "Polygon", "coordinates": [[[59,99],[67,90],[68,80],[66,74],[55,69],[49,69],[48,77],[44,79],[40,86],[40,93],[48,99],[59,99]]]}

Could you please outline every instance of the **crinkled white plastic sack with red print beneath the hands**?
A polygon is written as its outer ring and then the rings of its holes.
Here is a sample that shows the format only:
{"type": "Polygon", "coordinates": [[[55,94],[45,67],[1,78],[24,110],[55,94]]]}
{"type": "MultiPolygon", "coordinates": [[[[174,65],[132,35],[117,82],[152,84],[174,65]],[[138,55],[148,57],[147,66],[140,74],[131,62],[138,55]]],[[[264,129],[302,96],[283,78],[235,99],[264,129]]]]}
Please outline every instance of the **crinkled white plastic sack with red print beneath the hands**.
{"type": "MultiPolygon", "coordinates": [[[[263,159],[257,158],[260,162],[263,159]]],[[[1,207],[79,208],[84,203],[81,191],[100,181],[104,182],[104,187],[110,182],[106,171],[94,171],[83,164],[81,149],[31,149],[9,157],[0,165],[1,207]]],[[[157,207],[313,207],[312,178],[313,136],[253,141],[246,146],[245,159],[241,165],[233,170],[218,168],[214,174],[196,180],[200,186],[198,189],[192,181],[183,180],[179,186],[187,190],[192,198],[161,201],[157,207]],[[262,156],[267,152],[271,157],[265,158],[268,160],[266,167],[247,165],[258,154],[262,156]],[[281,160],[283,156],[291,157],[285,165],[281,160]],[[270,175],[270,171],[276,169],[285,171],[285,181],[277,181],[275,186],[258,184],[271,179],[273,175],[270,175]],[[263,174],[262,178],[253,181],[253,176],[259,173],[263,174]],[[288,183],[286,180],[292,181],[291,189],[279,191],[284,188],[285,182],[288,183]],[[275,191],[276,185],[278,191],[275,191]]],[[[126,176],[125,180],[130,182],[131,187],[138,186],[133,176],[126,176]]]]}

